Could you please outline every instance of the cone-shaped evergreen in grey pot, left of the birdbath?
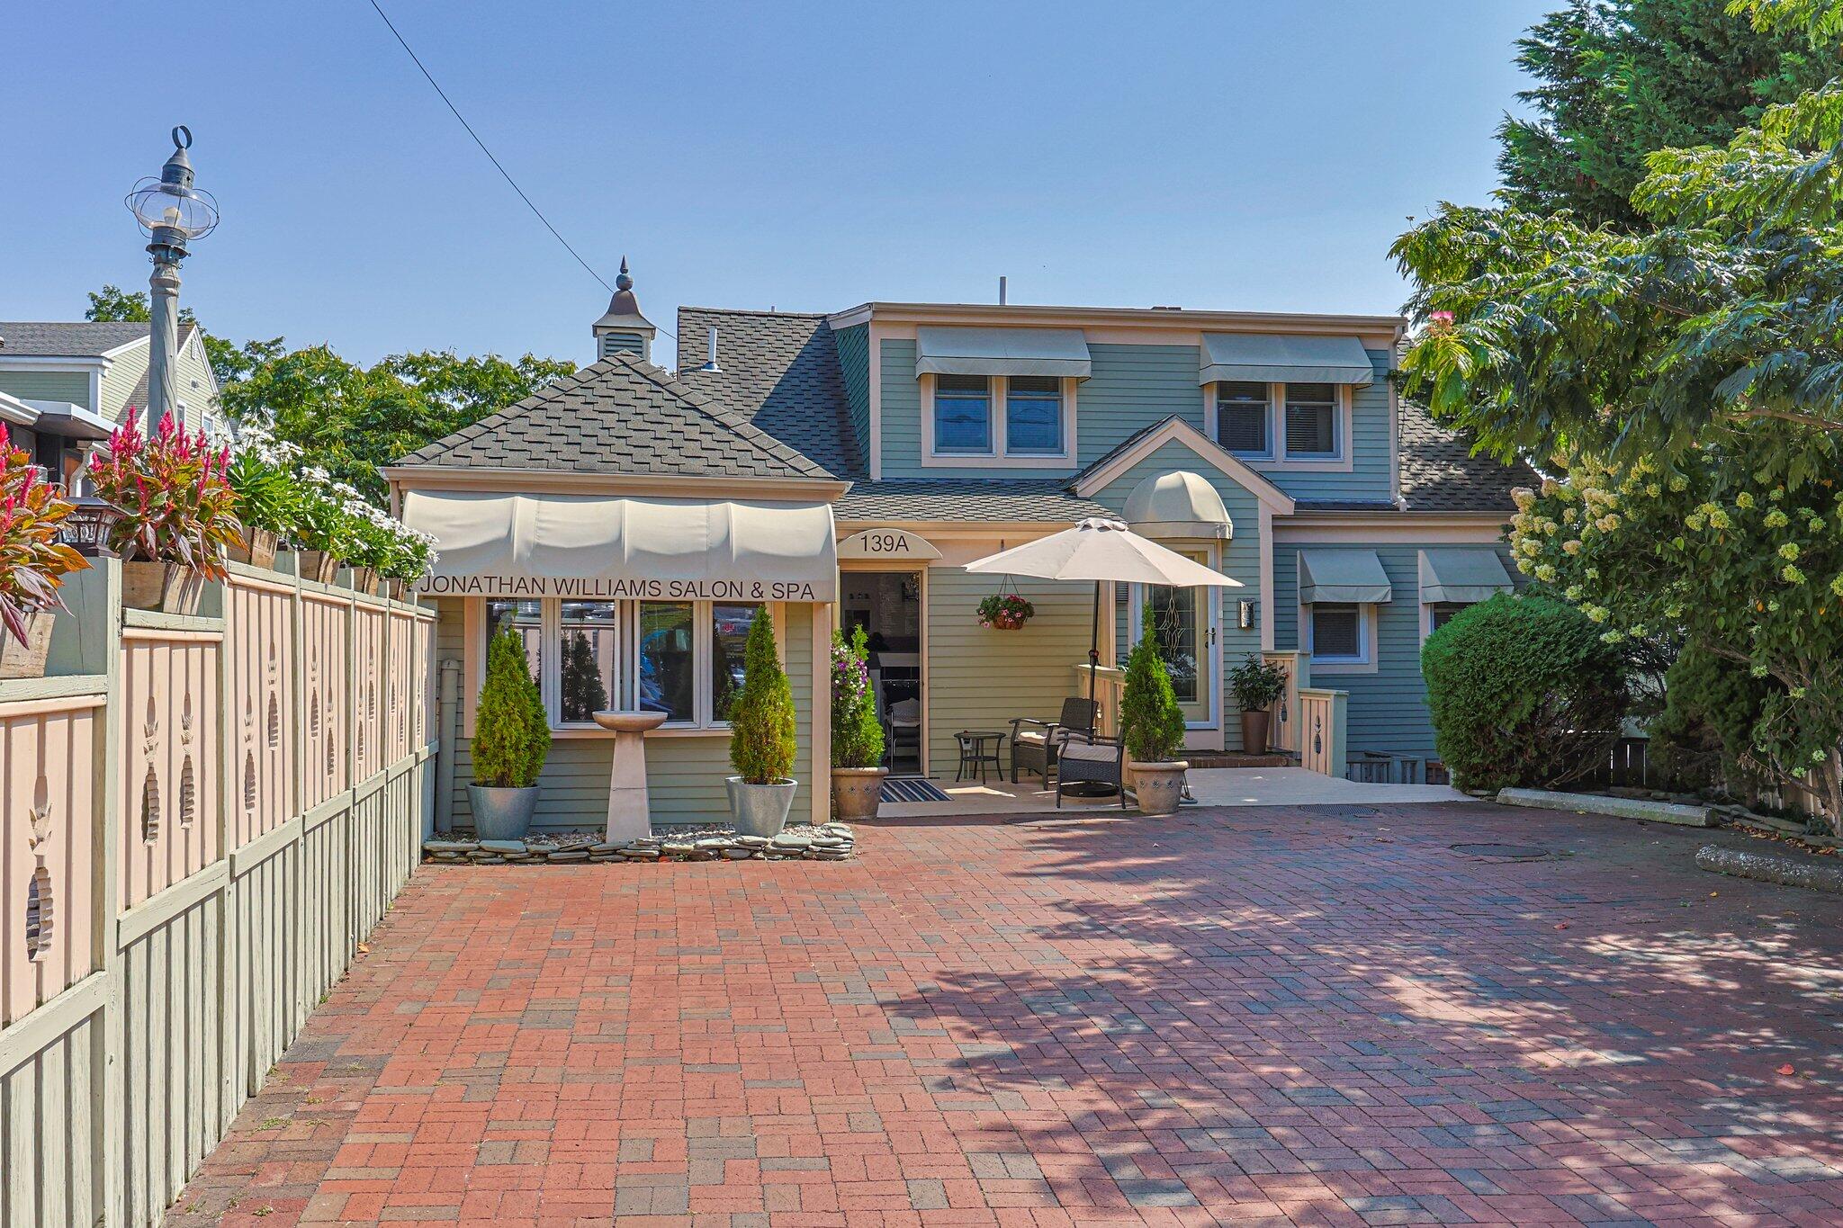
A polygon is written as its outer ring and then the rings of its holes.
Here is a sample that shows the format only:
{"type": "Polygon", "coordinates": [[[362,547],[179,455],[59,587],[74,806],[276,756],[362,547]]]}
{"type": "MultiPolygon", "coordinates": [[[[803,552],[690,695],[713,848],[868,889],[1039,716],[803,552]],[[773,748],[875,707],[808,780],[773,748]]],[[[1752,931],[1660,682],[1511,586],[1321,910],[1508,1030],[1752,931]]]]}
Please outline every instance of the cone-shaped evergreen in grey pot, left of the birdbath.
{"type": "Polygon", "coordinates": [[[538,806],[551,725],[525,668],[525,641],[505,626],[487,641],[487,681],[474,711],[474,782],[466,786],[479,840],[518,840],[538,806]]]}

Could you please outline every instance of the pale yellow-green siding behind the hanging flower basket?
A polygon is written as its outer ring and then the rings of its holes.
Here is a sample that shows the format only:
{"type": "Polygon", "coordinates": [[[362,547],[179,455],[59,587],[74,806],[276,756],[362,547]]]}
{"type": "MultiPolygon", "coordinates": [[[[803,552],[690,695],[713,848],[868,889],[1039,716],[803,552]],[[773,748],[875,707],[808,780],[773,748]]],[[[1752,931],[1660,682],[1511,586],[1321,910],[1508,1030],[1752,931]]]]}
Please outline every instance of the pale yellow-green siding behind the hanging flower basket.
{"type": "Polygon", "coordinates": [[[1095,585],[1025,576],[1017,576],[1015,585],[1036,606],[1036,617],[1015,631],[993,631],[979,626],[979,600],[997,591],[997,576],[958,567],[927,573],[929,770],[934,777],[953,779],[960,760],[953,735],[960,729],[1008,733],[1012,716],[1056,720],[1074,689],[1074,666],[1087,661],[1095,585]]]}

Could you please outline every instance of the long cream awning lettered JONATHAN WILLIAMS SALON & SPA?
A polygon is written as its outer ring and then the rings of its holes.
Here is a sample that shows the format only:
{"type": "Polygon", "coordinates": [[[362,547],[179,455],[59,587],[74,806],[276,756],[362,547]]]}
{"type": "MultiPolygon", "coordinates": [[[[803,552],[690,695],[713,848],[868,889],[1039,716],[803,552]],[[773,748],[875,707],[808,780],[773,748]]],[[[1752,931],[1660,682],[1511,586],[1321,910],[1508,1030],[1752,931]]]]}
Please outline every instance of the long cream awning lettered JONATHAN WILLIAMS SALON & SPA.
{"type": "Polygon", "coordinates": [[[829,503],[411,490],[435,597],[837,598],[829,503]]]}

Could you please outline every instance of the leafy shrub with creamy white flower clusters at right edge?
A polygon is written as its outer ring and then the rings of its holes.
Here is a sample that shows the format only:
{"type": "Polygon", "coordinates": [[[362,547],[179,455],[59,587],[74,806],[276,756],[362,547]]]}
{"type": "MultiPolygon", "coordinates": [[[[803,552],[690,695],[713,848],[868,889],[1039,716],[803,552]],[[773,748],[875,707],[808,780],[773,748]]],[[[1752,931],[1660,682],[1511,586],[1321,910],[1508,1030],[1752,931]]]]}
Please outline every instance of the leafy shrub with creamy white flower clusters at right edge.
{"type": "Polygon", "coordinates": [[[1756,425],[1690,447],[1668,471],[1557,455],[1565,482],[1513,495],[1511,549],[1605,643],[1662,635],[1766,679],[1749,746],[1732,751],[1815,792],[1843,834],[1843,482],[1782,457],[1756,425]],[[1568,504],[1591,514],[1544,532],[1568,504]]]}

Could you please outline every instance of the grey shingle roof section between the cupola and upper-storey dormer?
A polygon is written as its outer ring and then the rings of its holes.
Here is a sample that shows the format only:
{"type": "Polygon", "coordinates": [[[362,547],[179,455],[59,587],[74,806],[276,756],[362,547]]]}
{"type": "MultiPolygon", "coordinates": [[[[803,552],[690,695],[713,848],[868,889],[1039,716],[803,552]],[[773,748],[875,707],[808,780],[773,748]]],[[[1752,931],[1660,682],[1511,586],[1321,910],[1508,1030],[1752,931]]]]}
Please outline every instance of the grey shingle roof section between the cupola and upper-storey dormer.
{"type": "Polygon", "coordinates": [[[798,447],[833,477],[863,473],[831,326],[796,311],[678,309],[678,379],[798,447]],[[717,372],[700,370],[717,328],[717,372]]]}

